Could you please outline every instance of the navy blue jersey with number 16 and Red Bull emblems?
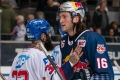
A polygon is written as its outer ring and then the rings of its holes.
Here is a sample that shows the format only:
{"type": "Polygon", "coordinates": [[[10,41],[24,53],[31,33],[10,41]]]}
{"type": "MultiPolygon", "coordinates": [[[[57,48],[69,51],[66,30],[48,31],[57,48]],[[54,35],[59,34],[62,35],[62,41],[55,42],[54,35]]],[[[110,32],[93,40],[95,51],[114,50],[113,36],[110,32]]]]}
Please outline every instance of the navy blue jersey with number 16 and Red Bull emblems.
{"type": "MultiPolygon", "coordinates": [[[[90,69],[92,70],[90,80],[114,80],[106,42],[102,35],[85,30],[75,39],[75,47],[77,45],[81,45],[84,53],[79,62],[73,67],[75,71],[74,79],[80,78],[79,72],[81,69],[90,69]]],[[[70,41],[68,35],[60,41],[60,48],[64,64],[69,60],[69,54],[73,48],[73,41],[70,41]]]]}

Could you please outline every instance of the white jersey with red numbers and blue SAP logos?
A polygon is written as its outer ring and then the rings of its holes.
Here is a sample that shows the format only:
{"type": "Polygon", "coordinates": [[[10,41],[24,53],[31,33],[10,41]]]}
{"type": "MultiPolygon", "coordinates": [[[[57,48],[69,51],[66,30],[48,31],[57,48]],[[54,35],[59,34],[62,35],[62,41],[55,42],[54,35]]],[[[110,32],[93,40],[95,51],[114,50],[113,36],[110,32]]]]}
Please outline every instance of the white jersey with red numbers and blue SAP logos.
{"type": "MultiPolygon", "coordinates": [[[[61,66],[61,52],[59,46],[56,46],[49,54],[52,60],[61,66]]],[[[28,47],[15,57],[8,77],[8,80],[50,79],[60,80],[43,51],[35,47],[28,47]]]]}

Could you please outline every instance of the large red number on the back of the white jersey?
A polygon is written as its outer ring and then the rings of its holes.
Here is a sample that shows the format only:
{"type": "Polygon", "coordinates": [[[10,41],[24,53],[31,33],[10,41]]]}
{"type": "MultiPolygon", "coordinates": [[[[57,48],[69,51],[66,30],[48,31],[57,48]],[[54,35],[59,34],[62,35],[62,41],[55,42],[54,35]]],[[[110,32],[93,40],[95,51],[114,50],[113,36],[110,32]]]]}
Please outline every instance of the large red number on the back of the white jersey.
{"type": "Polygon", "coordinates": [[[28,80],[28,72],[27,71],[13,71],[12,72],[12,77],[14,78],[16,76],[16,80],[18,77],[25,76],[25,80],[28,80]]]}

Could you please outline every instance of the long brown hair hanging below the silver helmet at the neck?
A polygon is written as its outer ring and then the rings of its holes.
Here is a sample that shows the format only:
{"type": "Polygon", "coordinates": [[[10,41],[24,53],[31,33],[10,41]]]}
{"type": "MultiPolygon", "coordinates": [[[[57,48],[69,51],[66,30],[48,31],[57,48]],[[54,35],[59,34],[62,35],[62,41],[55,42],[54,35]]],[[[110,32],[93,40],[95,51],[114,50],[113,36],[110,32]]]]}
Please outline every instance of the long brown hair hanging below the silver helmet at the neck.
{"type": "Polygon", "coordinates": [[[76,34],[80,34],[84,30],[86,30],[85,23],[81,22],[81,16],[80,16],[80,14],[78,14],[78,16],[79,16],[80,19],[79,19],[79,22],[76,24],[76,34]]]}

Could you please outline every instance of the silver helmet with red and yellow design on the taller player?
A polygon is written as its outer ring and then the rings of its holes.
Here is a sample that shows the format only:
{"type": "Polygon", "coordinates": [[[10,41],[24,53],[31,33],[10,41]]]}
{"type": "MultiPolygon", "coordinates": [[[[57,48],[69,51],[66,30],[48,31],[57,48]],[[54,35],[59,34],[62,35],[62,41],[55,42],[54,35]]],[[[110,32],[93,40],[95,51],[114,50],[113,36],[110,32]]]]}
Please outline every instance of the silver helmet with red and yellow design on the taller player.
{"type": "Polygon", "coordinates": [[[77,13],[81,15],[81,22],[83,21],[85,11],[81,3],[78,2],[73,2],[73,1],[67,1],[64,2],[63,4],[60,5],[58,9],[58,14],[57,14],[57,20],[59,20],[59,13],[68,11],[71,13],[71,17],[74,18],[77,16],[77,13]]]}

